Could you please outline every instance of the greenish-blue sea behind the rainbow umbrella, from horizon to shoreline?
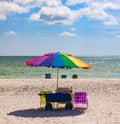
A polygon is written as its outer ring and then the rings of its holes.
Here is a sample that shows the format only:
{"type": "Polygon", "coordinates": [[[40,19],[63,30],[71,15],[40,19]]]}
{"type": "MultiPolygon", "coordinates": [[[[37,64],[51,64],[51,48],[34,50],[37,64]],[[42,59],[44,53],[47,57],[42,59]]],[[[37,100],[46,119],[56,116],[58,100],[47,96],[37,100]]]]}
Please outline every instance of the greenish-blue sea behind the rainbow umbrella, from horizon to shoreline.
{"type": "MultiPolygon", "coordinates": [[[[56,69],[46,67],[27,67],[26,61],[36,56],[0,56],[0,78],[45,78],[50,73],[56,78],[56,69]]],[[[78,56],[77,56],[78,57],[78,56]]],[[[92,66],[91,69],[59,69],[62,74],[72,78],[120,78],[120,56],[79,56],[79,59],[92,66]]]]}

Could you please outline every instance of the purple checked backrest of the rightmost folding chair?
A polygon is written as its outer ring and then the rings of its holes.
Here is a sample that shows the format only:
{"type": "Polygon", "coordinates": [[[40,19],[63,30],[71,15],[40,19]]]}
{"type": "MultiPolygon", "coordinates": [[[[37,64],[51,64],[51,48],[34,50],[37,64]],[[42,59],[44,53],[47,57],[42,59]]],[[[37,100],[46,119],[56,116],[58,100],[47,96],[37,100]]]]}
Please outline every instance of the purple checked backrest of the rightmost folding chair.
{"type": "Polygon", "coordinates": [[[86,92],[74,92],[74,104],[87,104],[86,92]]]}

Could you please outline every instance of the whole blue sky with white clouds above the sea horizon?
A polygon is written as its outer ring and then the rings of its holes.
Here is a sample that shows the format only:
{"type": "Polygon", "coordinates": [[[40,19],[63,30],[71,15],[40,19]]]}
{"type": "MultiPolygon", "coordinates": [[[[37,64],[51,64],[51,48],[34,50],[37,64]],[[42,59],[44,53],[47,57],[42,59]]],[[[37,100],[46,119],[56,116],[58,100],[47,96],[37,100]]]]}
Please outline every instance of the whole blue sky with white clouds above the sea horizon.
{"type": "Polygon", "coordinates": [[[120,0],[0,0],[0,56],[120,55],[120,0]]]}

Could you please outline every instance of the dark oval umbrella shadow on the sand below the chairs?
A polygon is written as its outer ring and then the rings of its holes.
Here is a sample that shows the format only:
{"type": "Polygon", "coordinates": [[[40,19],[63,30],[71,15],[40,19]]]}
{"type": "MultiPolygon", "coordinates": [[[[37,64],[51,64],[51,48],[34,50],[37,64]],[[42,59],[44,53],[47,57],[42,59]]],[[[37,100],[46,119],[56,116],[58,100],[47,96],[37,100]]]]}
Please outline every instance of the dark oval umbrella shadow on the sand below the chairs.
{"type": "Polygon", "coordinates": [[[14,115],[17,117],[24,117],[24,118],[44,118],[44,117],[67,117],[67,116],[77,116],[83,114],[84,111],[80,110],[64,110],[64,109],[57,109],[53,111],[45,111],[42,109],[25,109],[25,110],[17,110],[8,113],[7,115],[14,115]]]}

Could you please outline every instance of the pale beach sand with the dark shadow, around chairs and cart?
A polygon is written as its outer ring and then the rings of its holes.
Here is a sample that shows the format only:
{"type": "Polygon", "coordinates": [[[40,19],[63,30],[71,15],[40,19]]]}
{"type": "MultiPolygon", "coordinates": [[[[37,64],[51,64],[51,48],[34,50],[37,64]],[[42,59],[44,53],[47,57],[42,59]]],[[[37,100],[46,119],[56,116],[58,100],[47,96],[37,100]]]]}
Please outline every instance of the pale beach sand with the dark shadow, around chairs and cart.
{"type": "Polygon", "coordinates": [[[120,124],[120,79],[60,79],[59,86],[86,91],[88,109],[39,108],[39,92],[56,89],[56,79],[0,79],[0,124],[120,124]]]}

